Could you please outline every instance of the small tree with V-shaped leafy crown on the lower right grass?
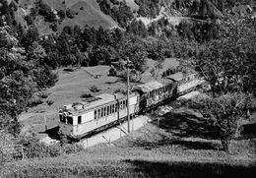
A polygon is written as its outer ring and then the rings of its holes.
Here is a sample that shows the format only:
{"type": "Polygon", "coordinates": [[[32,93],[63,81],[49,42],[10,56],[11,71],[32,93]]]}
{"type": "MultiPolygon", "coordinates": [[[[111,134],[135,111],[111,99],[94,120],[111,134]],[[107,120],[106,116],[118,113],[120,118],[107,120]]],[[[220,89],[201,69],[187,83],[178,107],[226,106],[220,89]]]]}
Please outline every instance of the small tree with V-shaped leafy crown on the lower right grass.
{"type": "Polygon", "coordinates": [[[189,107],[199,111],[220,138],[225,151],[239,134],[239,124],[251,109],[251,97],[243,93],[227,93],[219,97],[197,97],[189,107]]]}

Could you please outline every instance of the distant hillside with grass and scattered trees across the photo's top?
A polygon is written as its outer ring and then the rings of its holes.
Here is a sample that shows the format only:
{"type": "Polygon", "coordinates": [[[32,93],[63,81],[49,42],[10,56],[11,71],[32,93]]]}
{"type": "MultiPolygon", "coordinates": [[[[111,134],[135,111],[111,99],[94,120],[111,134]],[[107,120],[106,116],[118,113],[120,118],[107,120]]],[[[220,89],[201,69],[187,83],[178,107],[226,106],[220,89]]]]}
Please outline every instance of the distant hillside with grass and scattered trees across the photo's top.
{"type": "Polygon", "coordinates": [[[127,0],[126,4],[121,0],[20,0],[18,3],[9,0],[8,2],[17,5],[15,17],[19,24],[24,27],[29,26],[25,19],[27,16],[32,16],[35,27],[42,35],[59,34],[66,26],[88,25],[96,29],[100,26],[103,29],[120,27],[125,30],[133,20],[141,20],[148,28],[160,20],[167,20],[169,25],[177,26],[182,20],[196,22],[208,18],[224,18],[227,14],[242,15],[248,11],[253,14],[256,7],[255,2],[250,0],[127,0]],[[32,11],[38,8],[39,2],[50,8],[55,20],[49,22],[40,13],[32,15],[32,11]]]}

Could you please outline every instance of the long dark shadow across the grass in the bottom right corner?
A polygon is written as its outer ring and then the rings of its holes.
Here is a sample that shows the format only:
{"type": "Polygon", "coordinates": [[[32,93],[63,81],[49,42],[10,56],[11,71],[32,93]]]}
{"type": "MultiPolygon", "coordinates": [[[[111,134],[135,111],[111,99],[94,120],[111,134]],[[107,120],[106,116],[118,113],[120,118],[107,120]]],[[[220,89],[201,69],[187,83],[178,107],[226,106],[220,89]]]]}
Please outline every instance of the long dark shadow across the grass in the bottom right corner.
{"type": "Polygon", "coordinates": [[[256,165],[229,165],[224,163],[202,162],[160,162],[148,160],[126,160],[135,166],[143,177],[254,177],[256,165]]]}

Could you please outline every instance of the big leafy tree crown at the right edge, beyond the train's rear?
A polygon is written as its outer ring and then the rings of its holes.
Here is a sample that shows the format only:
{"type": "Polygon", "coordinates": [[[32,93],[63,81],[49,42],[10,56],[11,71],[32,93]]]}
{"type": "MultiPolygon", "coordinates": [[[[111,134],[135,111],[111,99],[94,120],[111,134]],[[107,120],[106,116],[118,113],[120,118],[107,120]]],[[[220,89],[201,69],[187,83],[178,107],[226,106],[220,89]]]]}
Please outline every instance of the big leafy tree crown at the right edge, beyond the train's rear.
{"type": "Polygon", "coordinates": [[[233,91],[255,93],[255,22],[227,22],[223,37],[195,51],[194,66],[210,83],[213,95],[233,91]]]}

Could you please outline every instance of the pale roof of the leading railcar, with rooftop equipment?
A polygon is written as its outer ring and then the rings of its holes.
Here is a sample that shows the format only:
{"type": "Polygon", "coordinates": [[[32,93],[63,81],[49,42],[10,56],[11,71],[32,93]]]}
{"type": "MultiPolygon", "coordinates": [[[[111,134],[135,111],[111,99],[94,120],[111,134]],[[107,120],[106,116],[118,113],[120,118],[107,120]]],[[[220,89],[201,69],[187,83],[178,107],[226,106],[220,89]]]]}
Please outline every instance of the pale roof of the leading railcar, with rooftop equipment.
{"type": "MultiPolygon", "coordinates": [[[[122,93],[101,93],[96,95],[91,99],[86,99],[82,102],[75,102],[73,104],[68,104],[62,108],[62,110],[66,110],[71,112],[74,115],[81,114],[87,110],[94,109],[96,107],[100,107],[101,105],[107,104],[109,102],[113,102],[115,100],[115,95],[117,99],[125,98],[126,95],[122,93]]],[[[135,94],[131,94],[130,97],[134,96],[135,94]]]]}

